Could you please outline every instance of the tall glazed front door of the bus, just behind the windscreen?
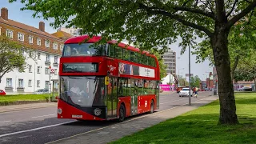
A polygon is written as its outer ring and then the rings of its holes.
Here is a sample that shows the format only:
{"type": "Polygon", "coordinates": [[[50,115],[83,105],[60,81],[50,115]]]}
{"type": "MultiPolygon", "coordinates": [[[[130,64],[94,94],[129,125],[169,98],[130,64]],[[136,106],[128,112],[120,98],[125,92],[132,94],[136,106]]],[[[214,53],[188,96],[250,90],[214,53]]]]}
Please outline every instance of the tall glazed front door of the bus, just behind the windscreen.
{"type": "Polygon", "coordinates": [[[116,118],[118,110],[118,78],[109,78],[109,83],[107,85],[107,98],[106,98],[106,108],[107,116],[106,118],[116,118]]]}

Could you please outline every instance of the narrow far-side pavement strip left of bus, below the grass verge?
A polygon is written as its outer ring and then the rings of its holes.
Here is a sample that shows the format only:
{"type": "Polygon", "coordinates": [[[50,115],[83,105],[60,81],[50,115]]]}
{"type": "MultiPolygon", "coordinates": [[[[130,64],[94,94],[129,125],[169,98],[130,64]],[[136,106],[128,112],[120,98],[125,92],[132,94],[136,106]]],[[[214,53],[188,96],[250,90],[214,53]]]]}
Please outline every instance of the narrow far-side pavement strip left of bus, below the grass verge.
{"type": "Polygon", "coordinates": [[[43,107],[57,106],[57,102],[42,102],[33,104],[22,104],[22,105],[10,105],[10,106],[0,106],[0,113],[17,111],[17,110],[31,110],[43,107]]]}

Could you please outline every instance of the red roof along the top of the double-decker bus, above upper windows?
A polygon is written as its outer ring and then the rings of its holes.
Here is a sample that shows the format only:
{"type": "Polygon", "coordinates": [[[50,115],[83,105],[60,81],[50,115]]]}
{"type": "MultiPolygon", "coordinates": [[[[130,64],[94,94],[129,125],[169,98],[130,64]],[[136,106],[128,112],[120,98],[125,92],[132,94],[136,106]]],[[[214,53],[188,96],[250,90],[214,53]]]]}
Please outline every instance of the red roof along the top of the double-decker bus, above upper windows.
{"type": "MultiPolygon", "coordinates": [[[[86,39],[89,38],[89,35],[82,35],[82,36],[78,36],[78,37],[74,37],[74,38],[69,38],[66,40],[66,42],[64,42],[64,44],[71,44],[71,43],[80,43],[80,42],[85,42],[86,39]]],[[[89,38],[89,40],[87,41],[87,43],[94,43],[94,42],[98,42],[102,37],[100,36],[94,36],[93,38],[89,38]]],[[[118,41],[115,40],[111,40],[108,43],[113,43],[116,44],[118,43],[118,41]]],[[[119,42],[118,46],[127,49],[127,50],[133,50],[136,52],[140,52],[140,50],[134,46],[129,46],[126,45],[125,43],[119,42]]],[[[148,51],[143,50],[142,54],[146,54],[150,57],[156,58],[153,54],[150,54],[148,51]]]]}

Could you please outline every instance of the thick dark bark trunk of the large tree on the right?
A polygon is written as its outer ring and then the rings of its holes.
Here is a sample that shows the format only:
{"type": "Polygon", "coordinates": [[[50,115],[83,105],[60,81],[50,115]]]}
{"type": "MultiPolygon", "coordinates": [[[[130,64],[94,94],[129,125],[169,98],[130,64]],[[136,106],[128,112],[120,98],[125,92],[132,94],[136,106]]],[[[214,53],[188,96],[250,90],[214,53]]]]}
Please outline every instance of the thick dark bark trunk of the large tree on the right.
{"type": "Polygon", "coordinates": [[[228,51],[228,34],[223,25],[215,27],[211,38],[214,53],[214,62],[218,74],[218,96],[220,115],[218,124],[238,124],[234,100],[234,87],[230,73],[230,55],[228,51]]]}

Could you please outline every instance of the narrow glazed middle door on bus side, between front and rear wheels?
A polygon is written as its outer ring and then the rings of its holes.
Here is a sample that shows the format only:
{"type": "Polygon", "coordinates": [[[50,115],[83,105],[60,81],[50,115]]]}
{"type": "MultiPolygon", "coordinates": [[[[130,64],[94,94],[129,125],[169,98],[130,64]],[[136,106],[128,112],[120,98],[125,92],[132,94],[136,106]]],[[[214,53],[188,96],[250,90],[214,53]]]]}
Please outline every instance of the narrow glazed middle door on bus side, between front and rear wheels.
{"type": "Polygon", "coordinates": [[[131,115],[138,114],[138,80],[130,79],[130,94],[131,115]]]}

